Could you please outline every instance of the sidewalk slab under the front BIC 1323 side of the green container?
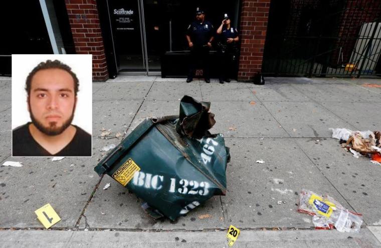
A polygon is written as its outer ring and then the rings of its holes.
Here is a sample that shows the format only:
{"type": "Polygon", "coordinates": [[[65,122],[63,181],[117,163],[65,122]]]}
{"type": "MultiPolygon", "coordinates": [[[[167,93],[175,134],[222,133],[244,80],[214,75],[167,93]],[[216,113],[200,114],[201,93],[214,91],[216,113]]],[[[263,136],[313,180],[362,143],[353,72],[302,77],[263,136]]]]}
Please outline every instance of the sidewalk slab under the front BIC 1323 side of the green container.
{"type": "Polygon", "coordinates": [[[126,229],[197,229],[226,228],[223,219],[221,200],[214,196],[186,216],[176,221],[163,218],[153,219],[141,208],[143,201],[135,194],[105,175],[94,197],[85,211],[90,228],[126,228],[126,229]],[[110,183],[107,190],[103,187],[110,183]],[[104,213],[104,214],[102,214],[104,213]],[[200,219],[198,216],[210,214],[210,218],[200,219]]]}

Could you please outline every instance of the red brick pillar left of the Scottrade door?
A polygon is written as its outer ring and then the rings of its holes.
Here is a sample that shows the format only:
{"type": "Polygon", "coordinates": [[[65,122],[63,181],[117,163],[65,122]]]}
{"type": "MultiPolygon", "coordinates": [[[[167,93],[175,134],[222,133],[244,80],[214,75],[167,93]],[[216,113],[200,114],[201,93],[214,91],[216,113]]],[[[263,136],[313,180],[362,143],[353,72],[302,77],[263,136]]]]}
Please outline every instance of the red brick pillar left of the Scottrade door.
{"type": "Polygon", "coordinates": [[[105,50],[95,0],[65,0],[75,51],[93,55],[93,80],[108,79],[105,50]]]}

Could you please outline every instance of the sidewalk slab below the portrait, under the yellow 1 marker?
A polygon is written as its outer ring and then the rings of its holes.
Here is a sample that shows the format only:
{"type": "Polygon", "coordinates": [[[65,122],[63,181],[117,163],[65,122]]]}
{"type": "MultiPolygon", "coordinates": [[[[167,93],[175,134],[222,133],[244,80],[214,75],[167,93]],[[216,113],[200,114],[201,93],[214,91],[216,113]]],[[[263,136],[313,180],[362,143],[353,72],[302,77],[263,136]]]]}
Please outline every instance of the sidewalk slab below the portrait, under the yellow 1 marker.
{"type": "Polygon", "coordinates": [[[0,166],[0,227],[42,227],[35,210],[50,203],[61,217],[55,227],[74,227],[99,181],[94,158],[8,158],[23,167],[0,166]],[[71,166],[73,164],[73,166],[71,166]]]}

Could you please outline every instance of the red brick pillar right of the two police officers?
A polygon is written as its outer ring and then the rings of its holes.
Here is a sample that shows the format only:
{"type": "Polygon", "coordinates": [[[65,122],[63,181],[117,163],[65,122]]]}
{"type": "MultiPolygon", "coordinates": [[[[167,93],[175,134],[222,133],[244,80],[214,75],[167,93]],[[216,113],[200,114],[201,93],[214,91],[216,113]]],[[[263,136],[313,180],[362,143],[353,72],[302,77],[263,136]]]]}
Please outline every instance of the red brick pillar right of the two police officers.
{"type": "Polygon", "coordinates": [[[253,80],[262,69],[270,0],[242,0],[238,80],[253,80]]]}

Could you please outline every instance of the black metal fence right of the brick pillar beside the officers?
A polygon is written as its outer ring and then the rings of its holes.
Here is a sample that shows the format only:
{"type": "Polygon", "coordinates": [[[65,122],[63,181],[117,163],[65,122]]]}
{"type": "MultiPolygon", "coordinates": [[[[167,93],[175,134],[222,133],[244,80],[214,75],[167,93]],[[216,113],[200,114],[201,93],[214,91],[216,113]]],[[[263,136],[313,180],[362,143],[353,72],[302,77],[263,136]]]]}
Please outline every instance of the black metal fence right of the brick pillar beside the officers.
{"type": "Polygon", "coordinates": [[[381,76],[381,0],[272,0],[262,73],[381,76]]]}

